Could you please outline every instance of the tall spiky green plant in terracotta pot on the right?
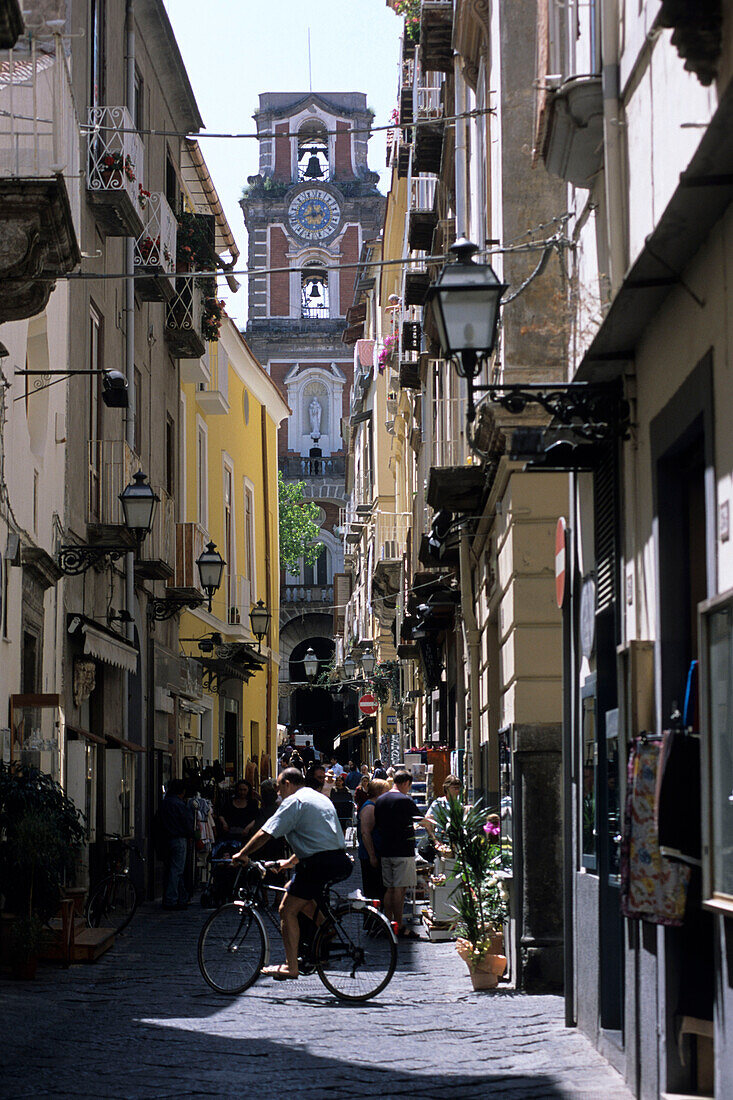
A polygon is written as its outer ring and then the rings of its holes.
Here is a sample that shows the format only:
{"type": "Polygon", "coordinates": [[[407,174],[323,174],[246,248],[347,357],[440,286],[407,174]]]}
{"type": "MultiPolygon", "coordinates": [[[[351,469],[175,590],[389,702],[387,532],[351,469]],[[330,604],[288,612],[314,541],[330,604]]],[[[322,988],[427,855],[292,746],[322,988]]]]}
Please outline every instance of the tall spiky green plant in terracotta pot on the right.
{"type": "Polygon", "coordinates": [[[434,812],[456,857],[451,877],[461,886],[453,901],[458,954],[469,968],[473,988],[493,989],[506,969],[506,871],[502,864],[499,817],[490,814],[481,802],[467,805],[461,799],[449,799],[434,812]]]}

